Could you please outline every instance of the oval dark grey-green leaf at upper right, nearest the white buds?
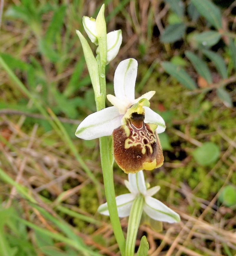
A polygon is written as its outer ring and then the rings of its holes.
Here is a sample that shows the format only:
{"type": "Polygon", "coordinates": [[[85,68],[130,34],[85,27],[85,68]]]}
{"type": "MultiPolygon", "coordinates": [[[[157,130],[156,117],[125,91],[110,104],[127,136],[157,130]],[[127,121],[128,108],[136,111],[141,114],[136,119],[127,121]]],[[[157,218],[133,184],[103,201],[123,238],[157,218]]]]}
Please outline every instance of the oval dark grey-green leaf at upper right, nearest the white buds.
{"type": "Polygon", "coordinates": [[[184,23],[169,25],[160,36],[160,41],[163,43],[173,43],[178,41],[183,37],[185,30],[186,25],[184,23]]]}

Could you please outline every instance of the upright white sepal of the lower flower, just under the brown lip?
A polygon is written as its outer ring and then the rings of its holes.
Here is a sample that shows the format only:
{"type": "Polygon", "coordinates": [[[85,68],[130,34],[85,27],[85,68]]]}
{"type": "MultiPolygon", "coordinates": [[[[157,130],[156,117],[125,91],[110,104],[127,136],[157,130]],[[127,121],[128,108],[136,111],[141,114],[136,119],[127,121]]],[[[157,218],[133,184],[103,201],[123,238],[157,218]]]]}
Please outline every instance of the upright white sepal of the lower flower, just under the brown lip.
{"type": "Polygon", "coordinates": [[[135,193],[135,194],[146,194],[146,185],[145,185],[145,179],[142,170],[137,172],[137,173],[129,173],[128,174],[129,178],[129,184],[130,184],[130,189],[135,193]]]}

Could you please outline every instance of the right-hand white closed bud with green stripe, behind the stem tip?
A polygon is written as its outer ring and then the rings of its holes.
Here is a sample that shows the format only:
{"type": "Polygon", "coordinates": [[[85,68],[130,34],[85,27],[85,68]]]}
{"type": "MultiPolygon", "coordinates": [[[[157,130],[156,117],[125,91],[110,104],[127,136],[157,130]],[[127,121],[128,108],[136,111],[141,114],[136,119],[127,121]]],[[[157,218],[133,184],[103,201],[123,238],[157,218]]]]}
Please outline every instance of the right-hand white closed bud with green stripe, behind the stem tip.
{"type": "MultiPolygon", "coordinates": [[[[115,30],[106,35],[107,40],[107,57],[106,64],[111,62],[116,56],[122,43],[121,30],[115,30]]],[[[99,54],[99,47],[96,50],[96,54],[99,54]]]]}

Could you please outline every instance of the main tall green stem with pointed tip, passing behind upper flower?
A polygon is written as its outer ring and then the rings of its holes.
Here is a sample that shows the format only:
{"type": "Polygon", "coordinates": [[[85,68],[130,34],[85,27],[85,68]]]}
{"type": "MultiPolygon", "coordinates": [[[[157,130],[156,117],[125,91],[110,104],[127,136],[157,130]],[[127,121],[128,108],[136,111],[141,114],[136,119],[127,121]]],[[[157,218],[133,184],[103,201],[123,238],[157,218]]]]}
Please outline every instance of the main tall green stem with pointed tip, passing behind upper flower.
{"type": "MultiPolygon", "coordinates": [[[[106,22],[104,19],[104,4],[102,5],[99,14],[96,18],[96,30],[99,44],[99,56],[96,57],[99,70],[99,82],[100,82],[100,97],[96,97],[97,111],[105,108],[106,97],[106,56],[107,56],[107,42],[106,42],[106,22]]],[[[110,150],[107,137],[99,138],[100,144],[100,156],[101,167],[104,180],[104,189],[106,195],[106,201],[108,205],[110,220],[114,231],[115,238],[117,240],[120,252],[122,256],[125,256],[125,239],[122,232],[122,228],[119,221],[117,212],[117,205],[115,199],[115,189],[113,181],[113,167],[110,157],[110,150]]]]}

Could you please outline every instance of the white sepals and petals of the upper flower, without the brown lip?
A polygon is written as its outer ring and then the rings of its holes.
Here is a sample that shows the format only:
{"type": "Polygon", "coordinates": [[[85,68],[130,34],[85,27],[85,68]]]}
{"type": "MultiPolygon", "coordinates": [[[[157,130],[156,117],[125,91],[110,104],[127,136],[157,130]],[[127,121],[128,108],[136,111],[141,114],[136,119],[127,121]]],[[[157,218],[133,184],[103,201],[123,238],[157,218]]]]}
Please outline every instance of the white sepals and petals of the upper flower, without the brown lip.
{"type": "MultiPolygon", "coordinates": [[[[114,75],[115,96],[108,96],[109,101],[111,100],[114,106],[107,107],[86,117],[76,130],[78,138],[91,140],[112,135],[114,129],[121,125],[121,119],[127,108],[142,98],[149,100],[154,95],[155,91],[150,91],[135,99],[137,66],[136,59],[125,59],[119,63],[114,75]]],[[[158,125],[157,133],[165,131],[163,118],[149,107],[144,106],[143,108],[145,110],[144,122],[158,125]]]]}

